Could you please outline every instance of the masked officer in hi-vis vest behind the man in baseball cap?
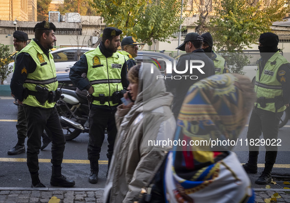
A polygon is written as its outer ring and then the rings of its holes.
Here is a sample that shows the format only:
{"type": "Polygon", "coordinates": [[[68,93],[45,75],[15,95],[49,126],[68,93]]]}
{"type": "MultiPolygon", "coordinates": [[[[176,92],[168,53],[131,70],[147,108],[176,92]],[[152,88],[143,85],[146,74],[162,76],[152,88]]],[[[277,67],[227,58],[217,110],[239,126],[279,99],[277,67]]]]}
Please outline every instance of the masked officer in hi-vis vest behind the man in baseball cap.
{"type": "Polygon", "coordinates": [[[215,75],[229,73],[226,60],[216,52],[212,50],[213,41],[210,32],[206,32],[201,35],[204,38],[202,49],[210,57],[214,64],[215,75]]]}

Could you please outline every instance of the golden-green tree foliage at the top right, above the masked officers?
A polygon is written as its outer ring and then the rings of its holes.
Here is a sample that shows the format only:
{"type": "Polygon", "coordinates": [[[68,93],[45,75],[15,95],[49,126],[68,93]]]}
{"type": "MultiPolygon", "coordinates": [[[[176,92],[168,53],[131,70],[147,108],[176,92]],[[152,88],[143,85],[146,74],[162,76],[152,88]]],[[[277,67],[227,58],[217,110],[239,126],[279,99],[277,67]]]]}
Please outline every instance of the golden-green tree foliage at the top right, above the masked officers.
{"type": "Polygon", "coordinates": [[[281,21],[290,6],[285,0],[220,0],[209,29],[217,49],[243,50],[258,42],[260,34],[271,31],[272,22],[281,21]],[[211,27],[211,28],[210,28],[211,27]]]}

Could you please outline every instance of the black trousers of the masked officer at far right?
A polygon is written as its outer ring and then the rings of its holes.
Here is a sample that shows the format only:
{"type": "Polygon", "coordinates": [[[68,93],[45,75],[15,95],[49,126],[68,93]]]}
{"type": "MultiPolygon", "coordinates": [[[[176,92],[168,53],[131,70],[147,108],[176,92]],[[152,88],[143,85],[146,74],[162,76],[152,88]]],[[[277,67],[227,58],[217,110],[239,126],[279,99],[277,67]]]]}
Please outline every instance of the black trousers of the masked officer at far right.
{"type": "MultiPolygon", "coordinates": [[[[254,139],[254,143],[257,143],[256,139],[260,138],[262,132],[264,140],[270,139],[271,143],[274,143],[272,142],[272,139],[274,139],[276,140],[275,144],[277,144],[279,121],[282,115],[283,112],[274,113],[254,107],[249,121],[249,128],[247,133],[249,151],[256,151],[252,152],[252,155],[258,156],[259,146],[256,146],[255,144],[254,146],[251,146],[250,139],[254,139]]],[[[261,145],[261,143],[258,144],[261,145]]],[[[265,149],[265,166],[272,166],[276,161],[278,147],[265,145],[265,149]]]]}

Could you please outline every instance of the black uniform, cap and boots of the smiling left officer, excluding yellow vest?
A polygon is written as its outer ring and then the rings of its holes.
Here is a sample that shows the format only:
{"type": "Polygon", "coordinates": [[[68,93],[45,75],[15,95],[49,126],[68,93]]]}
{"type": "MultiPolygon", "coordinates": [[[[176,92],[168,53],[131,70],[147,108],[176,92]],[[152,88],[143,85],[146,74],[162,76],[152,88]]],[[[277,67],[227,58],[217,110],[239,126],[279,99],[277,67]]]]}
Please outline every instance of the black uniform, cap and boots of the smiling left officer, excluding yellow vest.
{"type": "MultiPolygon", "coordinates": [[[[35,25],[34,31],[37,29],[46,29],[46,30],[55,30],[55,26],[52,23],[41,22],[35,25]]],[[[37,46],[43,51],[43,53],[49,57],[49,50],[42,47],[42,45],[36,40],[32,39],[37,46]]],[[[27,46],[26,46],[27,48],[27,46]]],[[[33,80],[27,81],[27,76],[33,74],[39,67],[32,56],[26,52],[26,48],[17,55],[15,71],[11,79],[11,92],[19,101],[23,101],[24,98],[24,87],[23,84],[29,81],[33,84],[33,80]]],[[[51,63],[53,62],[53,59],[51,63]]],[[[53,71],[53,70],[52,70],[53,71]]],[[[55,72],[55,70],[54,70],[55,72]]],[[[56,77],[54,82],[57,81],[56,77]]],[[[36,81],[36,83],[45,84],[46,81],[36,81]]],[[[28,93],[29,95],[32,94],[28,93]]],[[[51,184],[54,186],[63,186],[63,187],[72,187],[75,185],[73,180],[66,180],[65,177],[61,175],[61,163],[63,159],[63,152],[65,148],[65,138],[63,131],[59,122],[58,114],[55,106],[52,108],[43,108],[38,106],[30,106],[23,104],[26,122],[27,122],[27,166],[32,179],[31,187],[45,187],[38,178],[38,154],[41,148],[41,134],[44,131],[44,128],[49,129],[50,136],[52,139],[52,159],[53,164],[53,173],[51,178],[51,184]]]]}

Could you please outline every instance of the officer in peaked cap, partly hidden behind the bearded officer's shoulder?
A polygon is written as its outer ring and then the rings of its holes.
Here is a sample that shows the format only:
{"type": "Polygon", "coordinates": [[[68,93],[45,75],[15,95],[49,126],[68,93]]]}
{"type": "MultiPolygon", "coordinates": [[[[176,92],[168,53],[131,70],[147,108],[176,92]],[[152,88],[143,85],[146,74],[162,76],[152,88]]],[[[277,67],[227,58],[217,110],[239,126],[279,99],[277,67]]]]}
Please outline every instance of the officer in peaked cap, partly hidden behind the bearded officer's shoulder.
{"type": "Polygon", "coordinates": [[[134,37],[132,36],[123,38],[121,42],[122,51],[118,51],[118,52],[122,53],[125,56],[128,70],[132,66],[137,65],[134,58],[138,56],[138,45],[145,45],[145,44],[137,43],[134,37]]]}

